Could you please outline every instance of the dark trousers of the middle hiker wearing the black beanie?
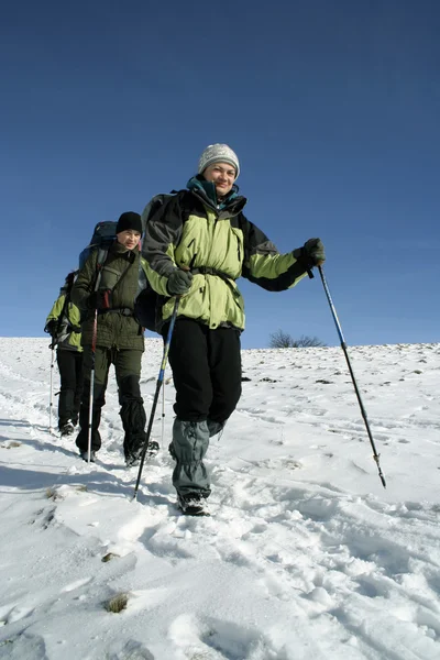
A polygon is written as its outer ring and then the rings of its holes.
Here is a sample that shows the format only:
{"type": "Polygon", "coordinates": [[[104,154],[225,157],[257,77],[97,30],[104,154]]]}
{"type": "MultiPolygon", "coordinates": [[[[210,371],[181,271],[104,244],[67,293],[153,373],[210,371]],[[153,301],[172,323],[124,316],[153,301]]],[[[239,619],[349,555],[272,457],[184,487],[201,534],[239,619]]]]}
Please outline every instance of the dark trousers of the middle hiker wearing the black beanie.
{"type": "MultiPolygon", "coordinates": [[[[101,421],[101,408],[106,404],[106,389],[109,378],[110,365],[114,365],[117,375],[120,416],[124,429],[125,457],[138,451],[145,441],[145,410],[141,397],[142,351],[134,349],[106,349],[97,346],[95,353],[95,384],[94,384],[94,408],[91,419],[91,449],[98,451],[101,448],[99,424],[101,421]]],[[[80,451],[87,451],[89,428],[89,403],[90,403],[90,374],[92,365],[91,346],[84,349],[84,389],[81,408],[79,413],[80,431],[76,444],[80,451]]]]}

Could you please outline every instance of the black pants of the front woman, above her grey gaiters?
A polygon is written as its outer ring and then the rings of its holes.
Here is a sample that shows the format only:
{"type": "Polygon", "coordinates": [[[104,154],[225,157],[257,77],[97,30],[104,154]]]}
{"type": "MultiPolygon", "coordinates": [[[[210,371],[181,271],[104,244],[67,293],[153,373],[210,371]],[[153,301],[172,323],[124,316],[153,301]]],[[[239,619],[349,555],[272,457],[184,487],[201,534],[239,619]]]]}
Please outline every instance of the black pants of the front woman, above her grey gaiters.
{"type": "Polygon", "coordinates": [[[241,396],[240,332],[177,319],[168,358],[178,419],[223,425],[241,396]]]}

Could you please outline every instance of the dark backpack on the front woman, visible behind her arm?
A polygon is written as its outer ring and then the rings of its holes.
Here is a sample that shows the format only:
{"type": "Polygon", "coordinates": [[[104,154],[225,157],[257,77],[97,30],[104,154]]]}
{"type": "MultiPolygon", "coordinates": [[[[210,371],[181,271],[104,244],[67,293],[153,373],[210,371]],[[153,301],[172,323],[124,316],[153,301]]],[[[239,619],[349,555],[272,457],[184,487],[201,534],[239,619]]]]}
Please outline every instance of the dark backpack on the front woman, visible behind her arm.
{"type": "MultiPolygon", "coordinates": [[[[176,194],[177,190],[172,190],[168,194],[156,195],[148,201],[142,212],[142,227],[144,231],[148,220],[153,218],[163,205],[167,204],[172,197],[175,197],[176,194]]],[[[164,299],[164,296],[160,296],[152,288],[142,266],[140,266],[139,289],[134,301],[134,318],[142,328],[161,334],[158,322],[161,320],[161,308],[164,299]]]]}

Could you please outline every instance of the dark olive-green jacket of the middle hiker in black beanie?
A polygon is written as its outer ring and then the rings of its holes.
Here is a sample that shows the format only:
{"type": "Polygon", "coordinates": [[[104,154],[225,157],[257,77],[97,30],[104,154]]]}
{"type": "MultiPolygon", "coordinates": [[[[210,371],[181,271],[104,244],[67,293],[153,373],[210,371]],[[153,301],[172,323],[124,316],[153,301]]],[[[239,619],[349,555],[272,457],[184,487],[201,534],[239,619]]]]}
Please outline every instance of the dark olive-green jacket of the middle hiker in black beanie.
{"type": "MultiPolygon", "coordinates": [[[[95,312],[87,300],[95,290],[99,251],[95,250],[80,270],[72,289],[72,300],[82,315],[82,345],[91,345],[95,312]]],[[[140,252],[127,250],[117,241],[111,245],[101,268],[100,289],[113,289],[111,311],[98,312],[97,345],[102,348],[144,350],[141,326],[130,314],[134,309],[138,290],[140,252]],[[130,316],[125,316],[129,314],[130,316]]]]}

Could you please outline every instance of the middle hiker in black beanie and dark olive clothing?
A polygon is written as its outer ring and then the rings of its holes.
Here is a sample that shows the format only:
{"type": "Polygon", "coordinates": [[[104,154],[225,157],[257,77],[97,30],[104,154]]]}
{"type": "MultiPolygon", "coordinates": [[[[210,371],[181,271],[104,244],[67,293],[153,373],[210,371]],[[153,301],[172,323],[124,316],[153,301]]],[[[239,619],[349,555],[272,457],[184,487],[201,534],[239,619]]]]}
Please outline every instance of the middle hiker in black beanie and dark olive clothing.
{"type": "MultiPolygon", "coordinates": [[[[85,386],[79,411],[80,431],[76,444],[81,458],[87,461],[90,374],[95,358],[91,460],[95,461],[101,447],[99,422],[101,408],[106,403],[109,369],[113,364],[124,429],[125,463],[130,466],[139,461],[145,442],[145,410],[140,391],[144,337],[143,329],[133,317],[140,263],[139,243],[142,234],[141,216],[132,211],[122,213],[116,231],[117,239],[110,245],[103,264],[98,263],[99,250],[92,251],[72,292],[73,301],[87,315],[81,326],[85,386]],[[99,287],[95,290],[98,270],[99,287]]],[[[158,449],[158,446],[152,442],[148,449],[158,449]]]]}

